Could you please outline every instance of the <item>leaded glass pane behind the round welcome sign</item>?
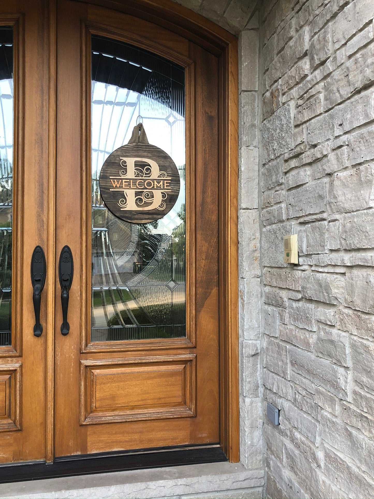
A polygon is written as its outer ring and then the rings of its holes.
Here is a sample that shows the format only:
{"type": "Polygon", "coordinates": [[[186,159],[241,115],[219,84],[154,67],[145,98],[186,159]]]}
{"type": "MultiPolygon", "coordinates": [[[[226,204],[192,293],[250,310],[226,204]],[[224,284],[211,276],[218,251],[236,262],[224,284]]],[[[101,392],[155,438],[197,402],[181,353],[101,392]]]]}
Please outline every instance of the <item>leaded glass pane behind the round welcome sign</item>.
{"type": "MultiPolygon", "coordinates": [[[[146,50],[92,35],[91,341],[186,336],[185,69],[146,50]],[[104,206],[106,158],[130,140],[141,116],[148,140],[176,163],[174,208],[130,224],[104,206]]],[[[144,176],[144,172],[138,173],[144,176]]]]}

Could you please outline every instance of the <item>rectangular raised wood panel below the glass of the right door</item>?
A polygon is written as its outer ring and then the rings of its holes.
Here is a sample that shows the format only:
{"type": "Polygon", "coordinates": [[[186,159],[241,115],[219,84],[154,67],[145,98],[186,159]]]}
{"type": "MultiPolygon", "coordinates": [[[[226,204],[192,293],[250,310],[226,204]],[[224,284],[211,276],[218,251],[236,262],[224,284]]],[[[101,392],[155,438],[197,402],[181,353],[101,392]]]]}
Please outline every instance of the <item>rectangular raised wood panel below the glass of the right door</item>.
{"type": "Polygon", "coordinates": [[[195,415],[195,355],[81,361],[81,424],[195,415]]]}

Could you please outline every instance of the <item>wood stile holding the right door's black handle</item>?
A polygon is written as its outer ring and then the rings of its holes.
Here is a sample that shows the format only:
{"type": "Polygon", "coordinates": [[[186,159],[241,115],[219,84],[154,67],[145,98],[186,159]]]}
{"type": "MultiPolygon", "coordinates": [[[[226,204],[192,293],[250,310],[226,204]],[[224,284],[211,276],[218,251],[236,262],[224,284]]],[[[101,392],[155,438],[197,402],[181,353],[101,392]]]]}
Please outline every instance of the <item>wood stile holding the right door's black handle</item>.
{"type": "MultiPolygon", "coordinates": [[[[81,259],[81,248],[90,246],[81,238],[82,204],[84,189],[91,194],[91,185],[82,182],[86,163],[82,154],[89,149],[85,144],[81,116],[82,96],[90,102],[90,87],[84,88],[81,78],[81,19],[87,18],[87,5],[79,2],[59,1],[57,4],[57,155],[56,155],[56,255],[68,245],[74,259],[74,278],[69,291],[68,321],[70,331],[60,331],[62,311],[61,288],[55,291],[55,456],[87,454],[87,426],[80,426],[79,362],[81,279],[83,268],[91,261],[81,259]],[[82,92],[84,88],[84,92],[82,92]],[[68,144],[68,147],[66,145],[68,144]],[[67,183],[68,179],[68,183],[67,183]],[[82,192],[83,190],[83,192],[82,192]]],[[[88,194],[87,194],[88,195],[88,194]]],[[[90,306],[90,303],[87,304],[90,306]]]]}

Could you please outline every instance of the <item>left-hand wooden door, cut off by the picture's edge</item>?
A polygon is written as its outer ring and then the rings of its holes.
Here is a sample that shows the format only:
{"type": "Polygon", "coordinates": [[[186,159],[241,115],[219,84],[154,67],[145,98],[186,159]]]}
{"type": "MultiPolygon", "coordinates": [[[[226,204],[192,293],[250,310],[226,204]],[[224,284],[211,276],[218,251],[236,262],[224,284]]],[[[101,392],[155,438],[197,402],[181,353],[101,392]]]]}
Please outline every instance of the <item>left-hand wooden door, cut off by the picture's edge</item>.
{"type": "MultiPolygon", "coordinates": [[[[35,336],[31,255],[47,250],[48,24],[42,2],[0,6],[0,463],[45,459],[46,291],[35,336]]],[[[52,201],[53,202],[53,201],[52,201]]],[[[51,303],[49,301],[49,303],[51,303]]]]}

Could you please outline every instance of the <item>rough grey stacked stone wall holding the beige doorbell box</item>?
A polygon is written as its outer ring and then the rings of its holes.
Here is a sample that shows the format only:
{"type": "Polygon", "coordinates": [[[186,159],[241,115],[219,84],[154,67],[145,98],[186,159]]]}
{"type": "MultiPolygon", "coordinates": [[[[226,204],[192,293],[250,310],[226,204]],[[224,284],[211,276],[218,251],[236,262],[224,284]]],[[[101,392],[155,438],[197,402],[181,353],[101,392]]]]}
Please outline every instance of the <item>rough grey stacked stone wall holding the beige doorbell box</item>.
{"type": "Polygon", "coordinates": [[[270,498],[374,497],[373,17],[373,0],[261,10],[263,398],[281,410],[279,426],[264,417],[270,498]],[[284,263],[289,234],[299,265],[284,263]]]}

